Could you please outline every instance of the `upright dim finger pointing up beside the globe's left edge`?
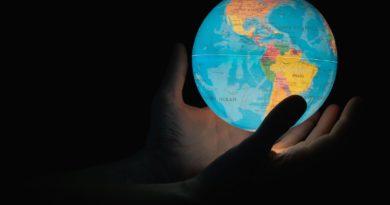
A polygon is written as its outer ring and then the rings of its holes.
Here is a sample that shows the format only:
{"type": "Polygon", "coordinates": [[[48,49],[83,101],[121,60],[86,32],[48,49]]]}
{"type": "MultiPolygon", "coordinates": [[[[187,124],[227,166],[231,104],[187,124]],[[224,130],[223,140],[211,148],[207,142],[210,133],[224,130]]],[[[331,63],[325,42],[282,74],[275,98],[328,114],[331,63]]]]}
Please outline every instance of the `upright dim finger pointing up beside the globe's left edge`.
{"type": "Polygon", "coordinates": [[[176,44],[161,86],[161,92],[164,96],[182,100],[187,66],[186,48],[183,44],[176,44]]]}

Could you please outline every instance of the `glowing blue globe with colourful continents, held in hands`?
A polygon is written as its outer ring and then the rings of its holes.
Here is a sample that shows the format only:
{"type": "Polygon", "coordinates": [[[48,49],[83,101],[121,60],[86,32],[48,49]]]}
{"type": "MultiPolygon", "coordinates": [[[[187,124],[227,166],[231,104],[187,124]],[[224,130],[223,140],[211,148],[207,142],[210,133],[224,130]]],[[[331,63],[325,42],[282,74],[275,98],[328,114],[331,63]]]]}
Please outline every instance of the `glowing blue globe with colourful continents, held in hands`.
{"type": "Polygon", "coordinates": [[[210,109],[254,131],[291,95],[314,114],[332,90],[337,49],[321,13],[303,0],[224,0],[205,18],[193,53],[197,88],[210,109]]]}

